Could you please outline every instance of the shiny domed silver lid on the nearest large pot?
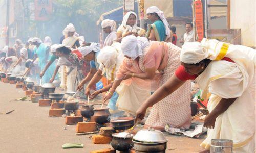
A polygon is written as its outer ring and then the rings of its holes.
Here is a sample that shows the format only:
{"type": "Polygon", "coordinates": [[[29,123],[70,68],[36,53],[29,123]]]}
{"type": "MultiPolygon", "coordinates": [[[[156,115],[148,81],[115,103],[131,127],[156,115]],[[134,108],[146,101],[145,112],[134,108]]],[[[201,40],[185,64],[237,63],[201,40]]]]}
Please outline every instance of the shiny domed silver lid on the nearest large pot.
{"type": "Polygon", "coordinates": [[[151,127],[138,131],[133,139],[147,143],[164,143],[168,141],[161,131],[155,130],[151,127]]]}

